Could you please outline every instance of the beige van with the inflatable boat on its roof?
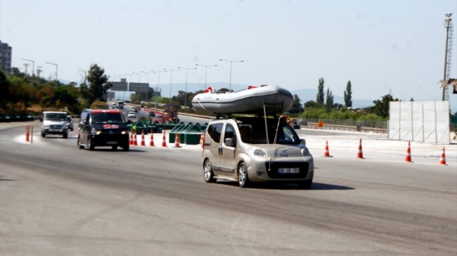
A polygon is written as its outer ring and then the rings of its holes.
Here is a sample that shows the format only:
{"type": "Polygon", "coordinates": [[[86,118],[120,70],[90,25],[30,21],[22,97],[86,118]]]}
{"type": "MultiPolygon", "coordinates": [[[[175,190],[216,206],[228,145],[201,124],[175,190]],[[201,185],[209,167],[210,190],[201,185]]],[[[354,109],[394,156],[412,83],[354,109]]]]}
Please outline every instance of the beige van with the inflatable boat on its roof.
{"type": "Polygon", "coordinates": [[[250,182],[280,181],[308,189],[314,176],[305,140],[278,117],[211,120],[202,160],[208,183],[223,179],[246,187],[250,182]]]}

